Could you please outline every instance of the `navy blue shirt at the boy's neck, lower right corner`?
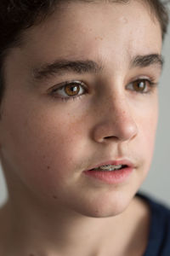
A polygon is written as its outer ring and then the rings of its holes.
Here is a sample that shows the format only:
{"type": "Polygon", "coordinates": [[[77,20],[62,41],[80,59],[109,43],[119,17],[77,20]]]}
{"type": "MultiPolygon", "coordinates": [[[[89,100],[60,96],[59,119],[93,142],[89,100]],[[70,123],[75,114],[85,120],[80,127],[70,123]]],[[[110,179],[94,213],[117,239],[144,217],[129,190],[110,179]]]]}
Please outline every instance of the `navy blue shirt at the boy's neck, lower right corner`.
{"type": "Polygon", "coordinates": [[[137,193],[150,206],[150,234],[144,256],[170,256],[170,209],[149,196],[137,193]]]}

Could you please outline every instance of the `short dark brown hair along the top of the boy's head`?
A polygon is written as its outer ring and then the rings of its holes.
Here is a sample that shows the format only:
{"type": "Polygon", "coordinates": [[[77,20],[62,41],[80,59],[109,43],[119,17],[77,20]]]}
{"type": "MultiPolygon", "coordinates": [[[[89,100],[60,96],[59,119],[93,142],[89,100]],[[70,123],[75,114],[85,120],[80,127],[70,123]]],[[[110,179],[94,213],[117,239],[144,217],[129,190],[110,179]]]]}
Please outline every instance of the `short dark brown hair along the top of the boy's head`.
{"type": "MultiPolygon", "coordinates": [[[[81,1],[96,3],[104,0],[1,0],[0,1],[0,103],[4,92],[3,61],[8,49],[20,44],[22,32],[27,28],[41,23],[59,3],[81,1]]],[[[106,1],[106,0],[105,0],[106,1]]],[[[128,3],[128,0],[107,0],[111,3],[128,3]]],[[[150,11],[159,20],[162,39],[167,32],[168,14],[165,3],[160,0],[144,0],[150,11]]]]}

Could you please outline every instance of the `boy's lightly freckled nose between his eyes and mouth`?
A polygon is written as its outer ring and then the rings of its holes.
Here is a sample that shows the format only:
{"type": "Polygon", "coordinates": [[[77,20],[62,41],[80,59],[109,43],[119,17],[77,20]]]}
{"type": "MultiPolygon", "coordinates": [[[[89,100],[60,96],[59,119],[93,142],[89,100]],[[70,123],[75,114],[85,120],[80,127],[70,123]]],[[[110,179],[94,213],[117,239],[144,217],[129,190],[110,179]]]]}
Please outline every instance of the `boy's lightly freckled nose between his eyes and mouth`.
{"type": "Polygon", "coordinates": [[[99,108],[99,119],[94,126],[94,140],[106,143],[111,140],[129,141],[138,134],[138,127],[133,117],[132,108],[124,97],[110,97],[99,108]]]}

